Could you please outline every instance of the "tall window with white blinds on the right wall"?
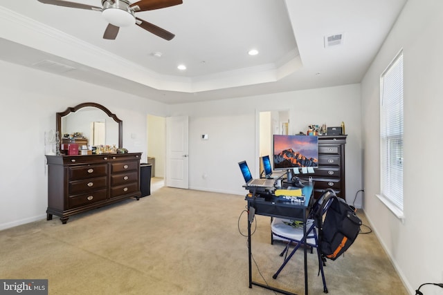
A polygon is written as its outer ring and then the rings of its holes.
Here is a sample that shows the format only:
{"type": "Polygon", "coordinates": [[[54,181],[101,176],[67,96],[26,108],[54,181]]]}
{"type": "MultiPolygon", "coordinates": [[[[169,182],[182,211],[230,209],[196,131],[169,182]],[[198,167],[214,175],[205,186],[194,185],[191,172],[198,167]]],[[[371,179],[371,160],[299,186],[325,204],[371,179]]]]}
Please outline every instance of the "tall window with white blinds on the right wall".
{"type": "Polygon", "coordinates": [[[379,198],[403,218],[403,52],[380,77],[379,198]]]}

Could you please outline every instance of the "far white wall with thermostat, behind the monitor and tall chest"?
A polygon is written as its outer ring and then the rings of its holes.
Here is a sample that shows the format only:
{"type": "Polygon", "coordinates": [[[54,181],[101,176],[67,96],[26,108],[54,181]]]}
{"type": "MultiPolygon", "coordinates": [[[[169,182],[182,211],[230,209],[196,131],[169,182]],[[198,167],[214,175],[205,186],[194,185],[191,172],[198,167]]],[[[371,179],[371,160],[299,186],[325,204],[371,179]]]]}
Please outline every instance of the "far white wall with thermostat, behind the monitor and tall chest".
{"type": "MultiPolygon", "coordinates": [[[[363,187],[359,84],[171,106],[171,115],[190,117],[190,188],[243,194],[237,163],[246,160],[253,176],[260,174],[259,113],[282,110],[289,111],[289,134],[306,132],[309,124],[345,122],[346,198],[352,202],[363,187]],[[199,140],[204,133],[209,140],[199,140]]],[[[355,204],[361,206],[360,197],[355,204]]]]}

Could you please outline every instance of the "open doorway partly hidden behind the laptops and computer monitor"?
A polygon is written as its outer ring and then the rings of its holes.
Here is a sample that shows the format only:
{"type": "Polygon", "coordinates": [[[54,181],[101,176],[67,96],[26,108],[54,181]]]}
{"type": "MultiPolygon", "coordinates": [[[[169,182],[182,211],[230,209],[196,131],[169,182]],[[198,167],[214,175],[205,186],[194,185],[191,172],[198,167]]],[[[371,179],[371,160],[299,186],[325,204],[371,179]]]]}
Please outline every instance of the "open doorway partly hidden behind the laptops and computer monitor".
{"type": "MultiPolygon", "coordinates": [[[[258,155],[269,155],[273,166],[273,134],[288,135],[289,132],[289,110],[261,111],[259,114],[259,151],[258,155]]],[[[260,176],[263,163],[259,160],[260,176]]]]}

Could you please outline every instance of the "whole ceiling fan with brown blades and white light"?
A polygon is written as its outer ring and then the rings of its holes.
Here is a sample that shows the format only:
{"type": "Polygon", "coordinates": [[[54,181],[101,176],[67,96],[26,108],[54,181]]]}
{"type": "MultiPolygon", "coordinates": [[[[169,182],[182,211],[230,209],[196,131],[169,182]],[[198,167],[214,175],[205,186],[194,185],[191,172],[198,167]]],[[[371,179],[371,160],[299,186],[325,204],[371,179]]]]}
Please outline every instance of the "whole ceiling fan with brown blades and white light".
{"type": "Polygon", "coordinates": [[[134,23],[137,26],[147,30],[148,32],[152,32],[152,34],[157,35],[165,40],[170,40],[174,38],[175,35],[172,34],[172,32],[168,32],[167,30],[155,26],[152,23],[144,21],[143,19],[139,19],[135,16],[135,13],[146,10],[156,10],[160,8],[176,6],[183,3],[182,0],[141,0],[132,4],[129,3],[129,0],[101,0],[102,8],[100,8],[98,6],[90,6],[87,4],[64,0],[38,1],[45,4],[57,6],[101,11],[103,18],[105,18],[109,22],[103,38],[110,40],[116,39],[120,27],[131,26],[134,25],[134,23]]]}

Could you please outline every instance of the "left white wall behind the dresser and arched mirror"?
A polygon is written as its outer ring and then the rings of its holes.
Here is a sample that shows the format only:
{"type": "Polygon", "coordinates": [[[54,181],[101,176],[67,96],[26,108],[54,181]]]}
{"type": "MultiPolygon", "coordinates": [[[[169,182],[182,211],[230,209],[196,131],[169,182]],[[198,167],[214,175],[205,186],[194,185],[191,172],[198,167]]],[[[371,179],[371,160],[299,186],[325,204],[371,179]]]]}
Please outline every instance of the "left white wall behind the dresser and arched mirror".
{"type": "Polygon", "coordinates": [[[82,102],[106,106],[123,120],[123,146],[147,149],[146,116],[166,115],[163,104],[107,88],[0,61],[0,229],[46,218],[47,166],[44,134],[55,113],[82,102]]]}

